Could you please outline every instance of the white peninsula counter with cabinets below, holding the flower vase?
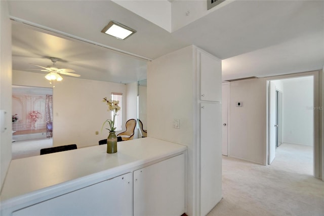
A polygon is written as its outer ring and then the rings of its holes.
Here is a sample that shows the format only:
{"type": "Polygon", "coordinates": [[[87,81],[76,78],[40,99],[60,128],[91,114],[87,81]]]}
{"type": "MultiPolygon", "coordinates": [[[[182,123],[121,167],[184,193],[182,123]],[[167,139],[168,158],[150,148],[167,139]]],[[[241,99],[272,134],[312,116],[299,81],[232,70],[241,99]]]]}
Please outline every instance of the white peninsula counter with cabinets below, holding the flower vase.
{"type": "Polygon", "coordinates": [[[1,215],[181,215],[186,146],[151,137],[12,160],[1,215]]]}

